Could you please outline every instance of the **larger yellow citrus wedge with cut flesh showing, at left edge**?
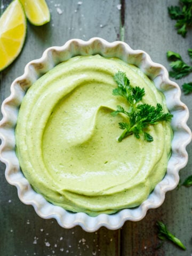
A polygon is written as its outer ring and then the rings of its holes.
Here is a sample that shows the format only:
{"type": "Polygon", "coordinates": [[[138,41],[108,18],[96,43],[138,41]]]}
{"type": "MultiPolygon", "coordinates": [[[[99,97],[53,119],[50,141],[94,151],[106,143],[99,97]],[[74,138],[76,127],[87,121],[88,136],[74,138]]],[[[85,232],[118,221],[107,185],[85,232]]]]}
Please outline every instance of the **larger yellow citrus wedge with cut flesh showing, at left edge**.
{"type": "Polygon", "coordinates": [[[22,4],[14,0],[0,18],[0,71],[18,57],[25,41],[26,28],[22,4]]]}

